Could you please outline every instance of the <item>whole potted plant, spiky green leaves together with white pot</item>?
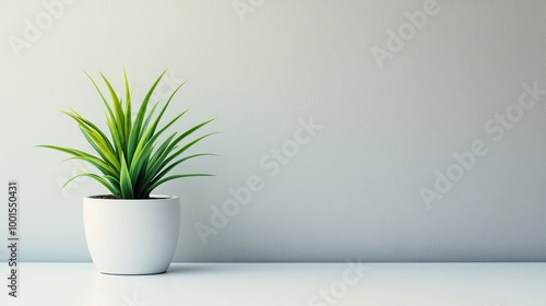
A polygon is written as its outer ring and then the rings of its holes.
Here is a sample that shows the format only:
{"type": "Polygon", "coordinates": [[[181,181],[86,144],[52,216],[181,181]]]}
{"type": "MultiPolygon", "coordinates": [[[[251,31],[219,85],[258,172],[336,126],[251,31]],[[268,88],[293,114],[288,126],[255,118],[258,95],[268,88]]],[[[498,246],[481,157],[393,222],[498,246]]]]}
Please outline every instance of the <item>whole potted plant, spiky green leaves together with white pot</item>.
{"type": "Polygon", "coordinates": [[[180,200],[176,196],[153,195],[159,185],[183,177],[209,174],[170,174],[183,162],[209,153],[187,155],[187,151],[206,133],[191,141],[189,137],[211,120],[198,123],[183,132],[166,131],[173,128],[188,110],[165,123],[162,118],[178,90],[159,107],[151,97],[162,80],[155,81],[138,108],[132,113],[132,93],[123,71],[122,98],[100,73],[109,94],[105,97],[97,83],[87,74],[106,108],[107,132],[73,109],[61,110],[79,126],[91,144],[90,152],[58,145],[39,145],[70,155],[94,166],[98,174],[81,172],[69,179],[85,176],[98,181],[109,193],[83,199],[85,238],[97,270],[108,274],[155,274],[167,270],[178,244],[180,200]]]}

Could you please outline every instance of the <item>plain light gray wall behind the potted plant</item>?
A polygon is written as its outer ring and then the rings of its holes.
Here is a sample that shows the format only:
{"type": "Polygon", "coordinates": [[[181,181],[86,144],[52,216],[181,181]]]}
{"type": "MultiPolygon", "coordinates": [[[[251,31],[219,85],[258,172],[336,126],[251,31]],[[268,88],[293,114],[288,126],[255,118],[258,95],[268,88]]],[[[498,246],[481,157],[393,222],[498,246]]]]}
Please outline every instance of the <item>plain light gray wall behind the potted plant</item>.
{"type": "Polygon", "coordinates": [[[135,95],[165,68],[163,93],[189,80],[178,127],[224,131],[201,145],[223,157],[188,166],[217,177],[157,190],[182,198],[177,261],[546,259],[544,1],[2,0],[0,28],[22,260],[90,260],[81,198],[104,191],[59,191],[81,166],[33,145],[83,145],[56,109],[102,119],[83,70],[119,86],[123,67],[135,95]]]}

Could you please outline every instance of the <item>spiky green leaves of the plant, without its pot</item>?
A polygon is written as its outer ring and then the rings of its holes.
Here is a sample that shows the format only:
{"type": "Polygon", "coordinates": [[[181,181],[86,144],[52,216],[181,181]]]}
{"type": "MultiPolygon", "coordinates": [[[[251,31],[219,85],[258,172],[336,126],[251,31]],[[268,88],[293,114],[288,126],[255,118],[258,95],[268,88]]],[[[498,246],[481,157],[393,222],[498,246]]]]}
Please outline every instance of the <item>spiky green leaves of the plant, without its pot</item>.
{"type": "Polygon", "coordinates": [[[201,153],[182,156],[182,153],[197,142],[214,133],[201,136],[189,142],[186,141],[190,134],[213,120],[210,119],[181,133],[174,132],[163,141],[158,139],[188,111],[187,109],[178,114],[166,125],[159,127],[159,121],[165,115],[173,97],[183,85],[181,84],[173,92],[159,113],[154,116],[156,110],[159,109],[159,102],[153,104],[151,97],[165,72],[166,71],[157,78],[149,90],[134,118],[132,118],[133,116],[131,114],[132,93],[129,89],[126,71],[123,71],[124,103],[114,91],[110,82],[103,73],[100,73],[100,76],[108,89],[110,102],[106,99],[97,83],[86,73],[106,106],[106,123],[110,138],[108,138],[95,123],[84,118],[75,110],[61,110],[61,113],[72,118],[78,123],[83,136],[93,146],[96,154],[57,145],[45,144],[38,146],[67,153],[71,155],[68,160],[75,158],[84,161],[97,168],[102,174],[97,175],[94,173],[81,172],[79,175],[69,179],[64,186],[78,177],[86,176],[105,186],[114,198],[147,199],[152,190],[166,181],[183,177],[210,176],[210,174],[168,175],[176,166],[190,158],[214,155],[201,153]],[[186,144],[181,145],[182,142],[186,144]]]}

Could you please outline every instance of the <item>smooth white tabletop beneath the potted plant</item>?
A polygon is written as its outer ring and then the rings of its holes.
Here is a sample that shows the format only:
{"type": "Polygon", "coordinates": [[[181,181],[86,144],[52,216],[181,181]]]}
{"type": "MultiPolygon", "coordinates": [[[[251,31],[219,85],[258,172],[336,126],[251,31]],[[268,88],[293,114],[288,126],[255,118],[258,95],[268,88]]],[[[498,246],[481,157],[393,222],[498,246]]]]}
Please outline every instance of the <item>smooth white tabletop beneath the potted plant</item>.
{"type": "Polygon", "coordinates": [[[22,262],[17,281],[19,297],[2,286],[0,305],[546,305],[546,263],[173,263],[120,276],[22,262]]]}

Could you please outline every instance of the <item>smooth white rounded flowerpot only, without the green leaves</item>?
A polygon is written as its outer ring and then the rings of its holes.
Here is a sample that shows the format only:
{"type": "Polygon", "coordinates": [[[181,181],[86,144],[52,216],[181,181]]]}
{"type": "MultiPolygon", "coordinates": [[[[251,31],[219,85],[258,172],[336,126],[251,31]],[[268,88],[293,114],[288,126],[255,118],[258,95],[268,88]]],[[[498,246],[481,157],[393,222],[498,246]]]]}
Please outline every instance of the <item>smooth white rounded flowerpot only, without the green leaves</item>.
{"type": "Polygon", "coordinates": [[[180,228],[180,199],[83,199],[85,239],[96,269],[107,274],[167,271],[180,228]]]}

